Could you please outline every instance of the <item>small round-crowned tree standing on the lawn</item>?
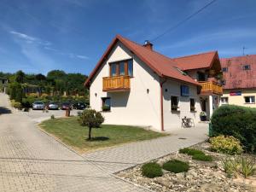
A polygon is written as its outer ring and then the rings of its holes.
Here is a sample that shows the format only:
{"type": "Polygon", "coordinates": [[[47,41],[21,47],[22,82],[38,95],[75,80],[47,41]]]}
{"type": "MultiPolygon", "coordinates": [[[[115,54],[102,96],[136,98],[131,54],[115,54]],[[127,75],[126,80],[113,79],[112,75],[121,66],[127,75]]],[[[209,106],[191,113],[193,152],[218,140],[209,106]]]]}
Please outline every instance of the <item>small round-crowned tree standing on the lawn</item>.
{"type": "Polygon", "coordinates": [[[79,115],[79,123],[82,126],[88,126],[89,134],[88,140],[91,139],[91,129],[100,127],[104,122],[104,118],[102,117],[102,113],[96,112],[94,109],[85,109],[83,113],[79,115]]]}

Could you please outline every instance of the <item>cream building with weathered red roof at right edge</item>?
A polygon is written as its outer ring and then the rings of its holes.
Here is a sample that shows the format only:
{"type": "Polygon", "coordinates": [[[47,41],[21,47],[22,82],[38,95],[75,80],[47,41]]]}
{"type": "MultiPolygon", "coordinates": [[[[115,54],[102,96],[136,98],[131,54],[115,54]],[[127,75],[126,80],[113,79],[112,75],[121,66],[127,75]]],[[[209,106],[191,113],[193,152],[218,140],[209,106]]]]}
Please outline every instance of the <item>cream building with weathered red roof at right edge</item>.
{"type": "Polygon", "coordinates": [[[220,59],[224,74],[224,94],[220,104],[255,108],[256,55],[220,59]]]}

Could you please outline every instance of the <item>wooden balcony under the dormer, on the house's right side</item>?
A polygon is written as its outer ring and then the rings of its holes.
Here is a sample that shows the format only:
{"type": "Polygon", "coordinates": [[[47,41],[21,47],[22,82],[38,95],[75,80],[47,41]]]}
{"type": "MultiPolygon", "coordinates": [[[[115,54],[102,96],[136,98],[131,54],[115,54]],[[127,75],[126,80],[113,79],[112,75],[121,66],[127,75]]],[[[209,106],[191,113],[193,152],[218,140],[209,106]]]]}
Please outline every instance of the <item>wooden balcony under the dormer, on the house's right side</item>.
{"type": "Polygon", "coordinates": [[[222,86],[212,81],[200,81],[201,84],[201,95],[222,95],[222,86]]]}

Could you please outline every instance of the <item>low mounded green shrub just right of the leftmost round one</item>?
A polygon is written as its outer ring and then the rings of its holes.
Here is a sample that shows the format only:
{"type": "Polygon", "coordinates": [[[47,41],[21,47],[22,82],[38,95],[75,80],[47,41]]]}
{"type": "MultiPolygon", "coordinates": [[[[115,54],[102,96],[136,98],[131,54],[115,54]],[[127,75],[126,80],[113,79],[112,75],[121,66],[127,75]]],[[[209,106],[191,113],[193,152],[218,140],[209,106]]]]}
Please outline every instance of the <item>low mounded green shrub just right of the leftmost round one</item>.
{"type": "Polygon", "coordinates": [[[188,172],[189,164],[181,160],[169,160],[164,163],[163,168],[169,172],[188,172]]]}

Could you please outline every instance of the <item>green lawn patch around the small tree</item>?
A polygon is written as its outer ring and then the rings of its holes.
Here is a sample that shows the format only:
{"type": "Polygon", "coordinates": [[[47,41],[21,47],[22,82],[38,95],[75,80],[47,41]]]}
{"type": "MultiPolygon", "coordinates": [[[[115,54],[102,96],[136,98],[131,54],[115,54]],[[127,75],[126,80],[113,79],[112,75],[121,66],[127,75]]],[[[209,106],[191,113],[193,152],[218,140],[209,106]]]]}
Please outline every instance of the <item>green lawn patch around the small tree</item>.
{"type": "Polygon", "coordinates": [[[88,128],[79,125],[77,117],[49,119],[42,122],[40,127],[81,153],[121,143],[131,143],[167,136],[164,133],[145,131],[135,126],[102,125],[101,128],[92,129],[92,137],[94,139],[93,141],[87,141],[88,128]]]}

